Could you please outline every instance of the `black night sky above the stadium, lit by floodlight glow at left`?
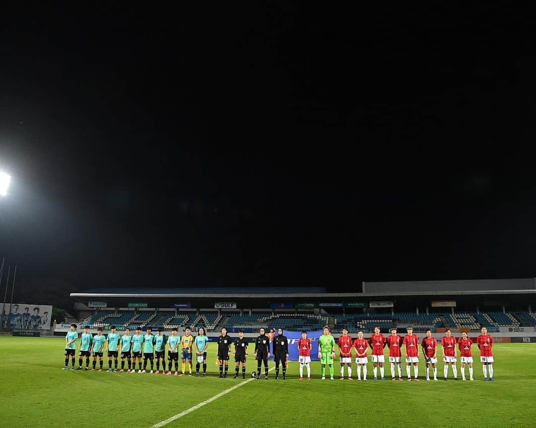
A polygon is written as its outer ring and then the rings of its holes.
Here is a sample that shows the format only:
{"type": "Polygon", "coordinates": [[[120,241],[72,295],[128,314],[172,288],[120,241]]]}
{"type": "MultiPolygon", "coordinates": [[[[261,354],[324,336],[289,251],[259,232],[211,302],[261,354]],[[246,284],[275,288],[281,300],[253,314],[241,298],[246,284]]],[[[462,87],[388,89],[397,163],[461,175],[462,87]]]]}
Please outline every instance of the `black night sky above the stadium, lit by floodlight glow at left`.
{"type": "Polygon", "coordinates": [[[21,277],[536,275],[525,11],[115,7],[3,14],[0,257],[21,277]]]}

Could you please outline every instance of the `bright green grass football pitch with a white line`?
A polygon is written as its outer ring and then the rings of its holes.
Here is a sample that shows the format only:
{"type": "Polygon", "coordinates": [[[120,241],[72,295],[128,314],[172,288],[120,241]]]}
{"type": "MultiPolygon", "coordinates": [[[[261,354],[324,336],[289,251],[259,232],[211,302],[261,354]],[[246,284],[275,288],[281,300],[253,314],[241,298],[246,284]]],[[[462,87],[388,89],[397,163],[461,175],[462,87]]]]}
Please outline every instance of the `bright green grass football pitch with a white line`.
{"type": "MultiPolygon", "coordinates": [[[[217,378],[214,343],[209,347],[206,378],[62,371],[63,348],[63,338],[0,337],[0,426],[150,427],[242,382],[232,379],[234,363],[230,378],[217,378]]],[[[290,427],[308,421],[318,425],[318,415],[325,410],[332,411],[329,426],[340,425],[340,415],[346,415],[344,424],[359,420],[361,425],[400,428],[422,425],[423,419],[433,421],[432,426],[534,426],[536,344],[495,344],[493,349],[495,382],[483,381],[479,362],[474,364],[474,382],[427,382],[422,362],[421,382],[374,382],[371,363],[367,382],[339,381],[338,362],[336,380],[322,381],[317,361],[312,363],[314,379],[299,381],[298,364],[292,361],[287,380],[274,380],[272,370],[270,380],[247,382],[166,426],[198,426],[199,421],[206,427],[290,427]],[[240,423],[239,415],[244,418],[240,423]]],[[[473,355],[477,351],[474,346],[473,355]]],[[[248,379],[254,368],[250,358],[248,379]]],[[[389,364],[385,374],[389,379],[389,364]]],[[[442,375],[440,363],[438,377],[442,375]]]]}

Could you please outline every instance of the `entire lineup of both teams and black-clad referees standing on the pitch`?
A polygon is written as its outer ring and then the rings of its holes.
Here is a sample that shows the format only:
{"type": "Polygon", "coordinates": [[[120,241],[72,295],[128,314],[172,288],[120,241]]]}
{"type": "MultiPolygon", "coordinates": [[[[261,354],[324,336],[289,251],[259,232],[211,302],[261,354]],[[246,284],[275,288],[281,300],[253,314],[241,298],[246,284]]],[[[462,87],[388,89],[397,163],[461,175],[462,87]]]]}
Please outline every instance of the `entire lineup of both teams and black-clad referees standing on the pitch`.
{"type": "MultiPolygon", "coordinates": [[[[192,350],[196,355],[196,376],[199,376],[201,367],[203,372],[201,376],[206,375],[206,352],[209,346],[209,338],[205,334],[204,328],[199,329],[196,337],[191,335],[189,328],[185,330],[185,335],[180,337],[178,330],[174,328],[171,336],[166,336],[159,328],[156,335],[151,333],[151,328],[147,327],[147,333],[142,335],[142,329],[138,327],[135,335],[130,335],[130,330],[125,329],[125,334],[121,336],[116,333],[115,326],[111,326],[111,333],[107,336],[102,334],[102,328],[99,328],[97,334],[93,336],[89,333],[89,327],[84,327],[84,333],[80,336],[79,346],[77,347],[78,332],[76,324],[71,324],[71,330],[65,335],[65,366],[63,370],[68,370],[69,357],[71,357],[71,370],[75,370],[75,356],[78,349],[79,359],[76,370],[83,370],[83,360],[85,357],[85,370],[89,370],[90,356],[93,356],[93,370],[96,370],[96,364],[99,363],[99,371],[102,372],[103,355],[107,349],[108,370],[107,372],[117,372],[118,360],[121,358],[120,372],[124,372],[125,361],[128,364],[128,373],[136,372],[136,363],[138,363],[138,373],[146,373],[147,363],[150,364],[150,373],[159,374],[160,364],[162,364],[162,373],[165,375],[184,375],[185,367],[188,365],[189,376],[192,375],[192,350]],[[165,353],[167,350],[167,368],[165,353]],[[180,356],[179,356],[180,353],[180,356]],[[179,358],[180,357],[180,358],[179,358]],[[156,359],[156,368],[154,372],[154,360],[156,359]],[[182,373],[178,372],[178,360],[182,361],[182,373]],[[143,369],[142,369],[143,360],[143,369]],[[114,368],[112,368],[112,363],[114,368]],[[172,365],[175,366],[174,373],[172,365]]],[[[389,348],[389,362],[391,363],[391,379],[396,380],[395,368],[398,369],[398,380],[402,377],[402,350],[406,353],[406,374],[407,380],[411,378],[411,367],[413,366],[414,380],[419,381],[419,345],[423,352],[426,364],[426,379],[430,380],[429,368],[433,369],[433,380],[437,380],[437,348],[439,344],[431,335],[431,331],[426,331],[426,337],[419,343],[419,339],[413,334],[413,328],[407,327],[407,334],[403,337],[397,334],[397,328],[391,329],[391,335],[385,337],[380,333],[379,327],[374,329],[375,333],[367,340],[363,337],[363,332],[359,331],[358,338],[353,340],[348,335],[348,330],[343,328],[343,335],[335,342],[330,333],[329,327],[324,327],[323,334],[318,338],[318,359],[322,366],[322,379],[326,379],[326,366],[330,371],[330,379],[333,380],[333,362],[336,358],[335,345],[339,348],[340,358],[340,380],[344,380],[344,368],[347,367],[348,380],[352,378],[352,352],[355,351],[355,363],[357,365],[358,380],[367,380],[367,352],[370,348],[374,370],[374,380],[377,380],[377,369],[379,367],[380,379],[384,377],[384,348],[389,348]],[[363,377],[361,377],[361,371],[363,377]]],[[[278,335],[266,335],[265,329],[259,329],[259,336],[255,339],[254,356],[257,360],[257,371],[251,373],[251,377],[260,379],[261,366],[264,365],[264,379],[268,379],[268,359],[273,355],[276,363],[276,379],[279,379],[279,368],[282,367],[282,379],[286,378],[288,367],[288,340],[283,335],[281,328],[278,329],[278,335]],[[272,349],[270,349],[272,344],[272,349]],[[270,352],[272,351],[272,352],[270,352]]],[[[482,363],[482,372],[484,380],[494,380],[493,376],[493,337],[487,334],[487,329],[482,327],[481,335],[477,339],[477,346],[480,350],[480,361],[482,363]],[[489,378],[488,378],[489,371],[489,378]]],[[[232,345],[234,344],[233,356],[235,360],[235,378],[239,378],[240,368],[242,369],[242,378],[245,378],[245,361],[248,357],[248,340],[244,337],[242,330],[239,331],[239,337],[233,341],[227,334],[226,328],[221,329],[221,335],[218,337],[217,364],[219,365],[220,378],[226,378],[228,372],[228,363],[231,354],[232,345]]],[[[458,350],[461,361],[461,377],[465,377],[465,365],[468,366],[470,380],[473,378],[473,341],[462,333],[459,340],[451,335],[451,330],[446,330],[445,336],[441,340],[443,349],[443,374],[444,379],[448,377],[449,365],[452,368],[453,377],[458,380],[456,361],[458,350]],[[457,346],[458,345],[458,348],[457,346]]],[[[302,338],[297,341],[299,350],[300,380],[303,380],[303,370],[307,369],[307,379],[311,379],[311,357],[312,341],[307,338],[307,332],[302,331],[302,338]]]]}

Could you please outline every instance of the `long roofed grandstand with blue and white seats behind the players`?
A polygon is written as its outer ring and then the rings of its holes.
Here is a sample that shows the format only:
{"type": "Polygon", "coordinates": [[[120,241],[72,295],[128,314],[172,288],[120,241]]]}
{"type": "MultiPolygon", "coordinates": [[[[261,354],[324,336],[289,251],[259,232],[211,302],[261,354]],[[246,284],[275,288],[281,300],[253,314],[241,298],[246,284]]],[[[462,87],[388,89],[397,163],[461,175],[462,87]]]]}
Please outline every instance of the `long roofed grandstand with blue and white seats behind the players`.
{"type": "Polygon", "coordinates": [[[323,287],[102,288],[71,293],[79,324],[91,328],[204,327],[215,335],[259,327],[318,330],[329,326],[371,333],[375,326],[414,331],[522,330],[536,326],[536,280],[364,282],[359,290],[329,293],[323,287]]]}

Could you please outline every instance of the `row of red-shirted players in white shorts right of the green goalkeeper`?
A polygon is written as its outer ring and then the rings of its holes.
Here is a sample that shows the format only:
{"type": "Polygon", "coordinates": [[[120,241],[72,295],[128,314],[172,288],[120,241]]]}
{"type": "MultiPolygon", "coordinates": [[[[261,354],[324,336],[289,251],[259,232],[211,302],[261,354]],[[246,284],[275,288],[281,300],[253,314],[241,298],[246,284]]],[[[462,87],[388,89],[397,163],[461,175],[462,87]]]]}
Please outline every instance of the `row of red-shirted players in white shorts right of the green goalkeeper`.
{"type": "MultiPolygon", "coordinates": [[[[484,380],[495,380],[493,377],[493,337],[487,334],[486,327],[482,327],[481,335],[478,336],[477,346],[480,350],[480,361],[482,363],[482,371],[484,374],[484,380]],[[488,378],[489,371],[489,378],[488,378]]],[[[325,333],[324,333],[325,334],[325,333]]],[[[467,337],[467,333],[462,333],[461,337],[457,341],[452,336],[451,330],[448,329],[445,332],[445,336],[441,340],[441,346],[443,349],[443,376],[444,380],[447,380],[449,365],[452,368],[452,374],[454,380],[458,380],[458,369],[456,367],[456,361],[458,356],[458,349],[460,352],[461,360],[461,379],[466,380],[465,366],[468,366],[470,380],[473,379],[473,355],[471,347],[473,341],[467,337]]],[[[407,334],[402,338],[397,334],[397,328],[391,329],[391,335],[385,337],[380,334],[379,327],[374,329],[374,334],[370,336],[369,340],[363,338],[363,332],[358,333],[358,338],[353,341],[348,336],[348,331],[343,329],[343,336],[339,337],[338,346],[340,350],[340,380],[344,380],[344,365],[348,368],[348,379],[352,380],[352,348],[355,349],[356,358],[355,362],[358,365],[358,380],[361,380],[361,368],[363,370],[363,380],[367,380],[367,351],[370,347],[372,351],[372,362],[374,371],[374,380],[377,380],[377,369],[379,366],[380,377],[385,380],[384,377],[384,348],[389,348],[389,362],[391,363],[391,380],[396,380],[395,366],[398,368],[398,380],[403,380],[402,377],[402,348],[406,350],[406,374],[407,380],[411,381],[411,366],[413,365],[414,380],[419,381],[419,339],[413,334],[413,328],[407,327],[407,334]]],[[[426,364],[426,380],[430,380],[429,368],[433,369],[433,380],[437,380],[437,348],[438,343],[434,337],[432,337],[431,330],[426,330],[426,337],[423,338],[420,343],[423,356],[426,364]]],[[[320,355],[319,355],[320,357],[320,355]]],[[[334,348],[333,348],[334,358],[334,348]]],[[[324,363],[323,363],[324,364],[324,363]]],[[[330,363],[328,363],[330,364],[330,363]]],[[[332,363],[331,363],[332,364],[332,363]]],[[[323,378],[324,379],[324,378],[323,378]]],[[[333,375],[331,377],[333,379],[333,375]]]]}

